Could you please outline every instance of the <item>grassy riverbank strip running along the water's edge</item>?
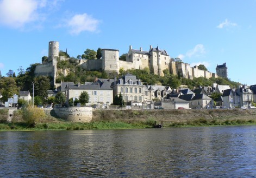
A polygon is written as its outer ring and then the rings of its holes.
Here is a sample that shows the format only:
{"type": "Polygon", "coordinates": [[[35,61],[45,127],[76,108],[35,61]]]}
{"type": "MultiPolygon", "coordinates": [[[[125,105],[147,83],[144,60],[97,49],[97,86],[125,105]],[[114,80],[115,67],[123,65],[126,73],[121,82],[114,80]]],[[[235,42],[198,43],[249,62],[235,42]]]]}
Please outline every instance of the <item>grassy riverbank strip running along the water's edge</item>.
{"type": "MultiPolygon", "coordinates": [[[[1,117],[5,114],[2,112],[1,117]]],[[[47,115],[33,127],[22,121],[19,111],[13,122],[0,123],[5,130],[84,130],[132,129],[152,127],[163,121],[164,127],[230,126],[256,124],[256,109],[154,109],[154,110],[93,110],[89,123],[67,122],[47,115]]]]}

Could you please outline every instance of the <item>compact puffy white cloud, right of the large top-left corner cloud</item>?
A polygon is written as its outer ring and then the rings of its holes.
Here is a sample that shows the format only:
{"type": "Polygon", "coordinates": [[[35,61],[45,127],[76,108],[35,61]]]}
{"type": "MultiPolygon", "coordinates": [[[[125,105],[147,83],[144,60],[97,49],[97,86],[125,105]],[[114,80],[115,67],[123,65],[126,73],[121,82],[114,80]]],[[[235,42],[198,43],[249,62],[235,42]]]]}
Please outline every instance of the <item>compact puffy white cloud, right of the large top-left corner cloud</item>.
{"type": "Polygon", "coordinates": [[[68,19],[67,27],[70,33],[74,35],[80,34],[82,31],[97,31],[99,21],[87,14],[77,14],[68,19]]]}

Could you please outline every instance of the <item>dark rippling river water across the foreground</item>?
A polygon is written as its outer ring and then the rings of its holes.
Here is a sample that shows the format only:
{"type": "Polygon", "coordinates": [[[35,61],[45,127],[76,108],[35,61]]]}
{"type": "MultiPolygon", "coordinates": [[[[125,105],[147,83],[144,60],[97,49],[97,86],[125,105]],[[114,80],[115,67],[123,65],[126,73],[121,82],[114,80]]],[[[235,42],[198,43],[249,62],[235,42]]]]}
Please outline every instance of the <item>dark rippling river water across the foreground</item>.
{"type": "Polygon", "coordinates": [[[256,177],[256,126],[0,132],[0,177],[256,177]]]}

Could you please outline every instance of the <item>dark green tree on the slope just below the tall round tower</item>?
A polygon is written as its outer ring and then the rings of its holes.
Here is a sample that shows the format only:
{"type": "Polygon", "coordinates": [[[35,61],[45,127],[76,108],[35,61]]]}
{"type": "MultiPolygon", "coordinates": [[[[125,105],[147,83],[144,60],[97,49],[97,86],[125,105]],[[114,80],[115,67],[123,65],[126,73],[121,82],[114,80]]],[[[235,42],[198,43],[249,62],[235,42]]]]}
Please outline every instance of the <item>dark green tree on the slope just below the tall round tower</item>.
{"type": "Polygon", "coordinates": [[[34,78],[34,94],[40,96],[45,102],[48,98],[47,90],[51,87],[50,80],[46,76],[38,76],[34,78]]]}

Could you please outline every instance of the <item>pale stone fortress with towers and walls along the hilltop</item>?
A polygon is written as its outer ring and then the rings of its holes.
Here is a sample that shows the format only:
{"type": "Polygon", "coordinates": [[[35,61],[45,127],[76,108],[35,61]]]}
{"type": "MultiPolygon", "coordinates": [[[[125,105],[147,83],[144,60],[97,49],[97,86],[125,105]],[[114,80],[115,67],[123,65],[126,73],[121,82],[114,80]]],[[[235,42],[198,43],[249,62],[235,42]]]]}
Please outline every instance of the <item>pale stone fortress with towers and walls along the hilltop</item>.
{"type": "MultiPolygon", "coordinates": [[[[59,42],[51,41],[49,42],[48,48],[48,58],[42,60],[41,65],[37,65],[35,69],[35,75],[46,75],[52,76],[55,79],[58,77],[57,74],[57,59],[60,61],[68,60],[68,58],[60,56],[59,57],[59,42]]],[[[190,78],[193,77],[217,77],[215,73],[209,71],[200,70],[197,66],[191,67],[188,63],[177,62],[171,58],[166,50],[160,50],[158,47],[153,48],[152,45],[149,46],[148,51],[132,49],[130,45],[128,54],[126,56],[126,61],[119,60],[119,50],[117,49],[102,49],[102,58],[95,60],[86,60],[79,59],[79,65],[85,70],[105,70],[105,71],[115,71],[119,73],[119,70],[122,68],[124,70],[128,69],[145,69],[149,70],[153,74],[160,76],[164,75],[163,70],[168,70],[170,74],[179,75],[180,77],[190,78]]],[[[218,68],[222,65],[217,65],[216,71],[217,74],[220,74],[220,70],[223,71],[223,68],[218,68]]],[[[226,63],[223,64],[227,76],[227,67],[226,63]]],[[[65,75],[65,74],[64,74],[65,75]]]]}

